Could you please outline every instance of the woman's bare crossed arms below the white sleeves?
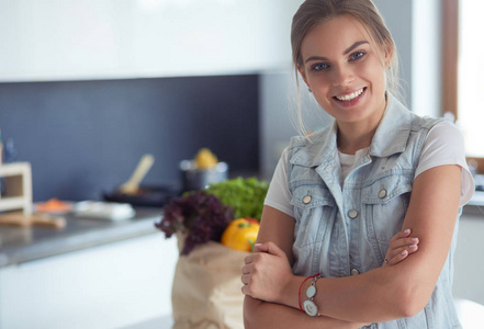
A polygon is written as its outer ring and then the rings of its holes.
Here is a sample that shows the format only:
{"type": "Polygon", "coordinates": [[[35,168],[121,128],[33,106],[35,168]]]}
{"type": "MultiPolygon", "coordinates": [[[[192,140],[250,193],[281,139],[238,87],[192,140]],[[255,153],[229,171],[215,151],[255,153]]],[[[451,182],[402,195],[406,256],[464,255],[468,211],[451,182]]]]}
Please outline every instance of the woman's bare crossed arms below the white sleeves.
{"type": "Polygon", "coordinates": [[[428,303],[449,253],[460,189],[459,166],[419,174],[404,220],[404,228],[419,238],[419,251],[360,275],[319,279],[314,299],[323,316],[314,318],[299,310],[304,277],[291,271],[294,219],[266,207],[258,237],[263,252],[249,256],[243,269],[246,328],[359,328],[416,315],[428,303]]]}

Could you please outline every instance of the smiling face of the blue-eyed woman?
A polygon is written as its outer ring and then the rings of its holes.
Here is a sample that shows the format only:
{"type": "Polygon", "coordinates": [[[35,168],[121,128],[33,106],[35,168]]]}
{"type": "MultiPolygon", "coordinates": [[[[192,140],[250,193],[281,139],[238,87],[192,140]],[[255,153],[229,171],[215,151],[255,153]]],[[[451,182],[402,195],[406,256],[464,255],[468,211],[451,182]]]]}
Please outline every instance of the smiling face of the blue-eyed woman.
{"type": "Polygon", "coordinates": [[[301,45],[300,72],[338,124],[378,125],[385,109],[385,54],[363,25],[341,15],[312,29],[301,45]]]}

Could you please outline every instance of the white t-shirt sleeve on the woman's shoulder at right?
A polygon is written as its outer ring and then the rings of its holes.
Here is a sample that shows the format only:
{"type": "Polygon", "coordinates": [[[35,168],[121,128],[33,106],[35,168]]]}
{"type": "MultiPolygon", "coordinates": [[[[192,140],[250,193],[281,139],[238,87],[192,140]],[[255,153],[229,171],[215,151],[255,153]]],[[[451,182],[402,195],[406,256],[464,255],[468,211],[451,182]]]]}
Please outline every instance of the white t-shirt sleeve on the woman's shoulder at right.
{"type": "Polygon", "coordinates": [[[462,133],[450,121],[440,122],[429,131],[415,178],[426,170],[443,164],[462,167],[460,206],[463,206],[474,194],[474,180],[465,161],[462,133]]]}

